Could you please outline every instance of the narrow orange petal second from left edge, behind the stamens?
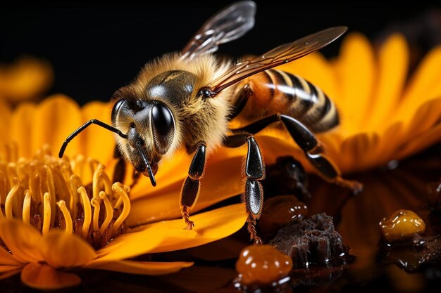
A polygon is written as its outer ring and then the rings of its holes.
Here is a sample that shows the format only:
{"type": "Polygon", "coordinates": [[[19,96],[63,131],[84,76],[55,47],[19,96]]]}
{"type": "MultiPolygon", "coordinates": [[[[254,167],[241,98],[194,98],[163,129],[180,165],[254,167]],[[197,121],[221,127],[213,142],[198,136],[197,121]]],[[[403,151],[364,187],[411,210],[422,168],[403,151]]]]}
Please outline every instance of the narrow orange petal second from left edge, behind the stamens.
{"type": "Polygon", "coordinates": [[[19,157],[30,158],[34,154],[30,143],[32,133],[32,125],[35,124],[35,105],[30,103],[22,103],[13,112],[11,118],[10,141],[14,141],[19,145],[19,157]]]}

